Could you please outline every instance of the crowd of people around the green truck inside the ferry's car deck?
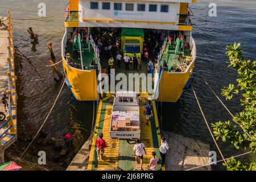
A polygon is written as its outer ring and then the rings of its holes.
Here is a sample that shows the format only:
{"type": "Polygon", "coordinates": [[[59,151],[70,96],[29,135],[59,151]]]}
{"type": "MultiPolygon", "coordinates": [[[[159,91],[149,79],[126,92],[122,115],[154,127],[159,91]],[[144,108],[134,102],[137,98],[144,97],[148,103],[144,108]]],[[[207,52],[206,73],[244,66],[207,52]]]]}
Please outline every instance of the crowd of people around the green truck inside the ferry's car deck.
{"type": "Polygon", "coordinates": [[[104,60],[108,60],[108,69],[104,67],[102,72],[110,73],[110,69],[121,68],[122,63],[127,71],[130,70],[130,63],[133,64],[134,71],[141,71],[144,61],[147,65],[147,73],[153,73],[158,63],[156,55],[160,51],[160,45],[162,45],[167,34],[157,30],[144,30],[144,45],[141,57],[136,54],[132,57],[125,53],[122,55],[121,28],[93,28],[92,35],[94,35],[94,42],[100,51],[100,56],[104,57],[104,60]],[[155,59],[152,59],[152,57],[155,57],[155,59]]]}

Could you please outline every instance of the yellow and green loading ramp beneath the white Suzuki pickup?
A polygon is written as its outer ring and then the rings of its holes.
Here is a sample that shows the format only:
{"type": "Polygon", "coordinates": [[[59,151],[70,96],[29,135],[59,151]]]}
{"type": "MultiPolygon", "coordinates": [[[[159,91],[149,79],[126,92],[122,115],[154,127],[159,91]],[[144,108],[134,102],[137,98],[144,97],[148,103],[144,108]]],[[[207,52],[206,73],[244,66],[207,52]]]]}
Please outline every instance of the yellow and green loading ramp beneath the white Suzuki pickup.
{"type": "MultiPolygon", "coordinates": [[[[141,93],[139,102],[147,100],[147,93],[141,93]]],[[[110,123],[112,116],[112,104],[113,99],[107,94],[107,96],[100,101],[98,107],[98,113],[95,123],[92,147],[89,153],[88,168],[89,171],[94,170],[137,170],[140,169],[140,164],[135,163],[133,154],[134,141],[127,142],[124,139],[110,139],[110,123]],[[100,133],[104,134],[104,139],[107,143],[104,152],[103,160],[97,160],[96,153],[96,139],[100,133]]],[[[146,103],[146,102],[144,102],[146,103]]],[[[156,156],[160,158],[159,146],[160,146],[160,130],[158,124],[158,116],[156,113],[155,101],[152,101],[154,110],[154,117],[152,118],[149,126],[146,125],[146,115],[144,115],[144,106],[140,104],[140,119],[141,119],[141,142],[144,143],[147,154],[144,154],[143,169],[146,170],[147,166],[152,158],[152,151],[156,152],[156,156]]],[[[158,163],[158,170],[164,170],[158,163]]]]}

